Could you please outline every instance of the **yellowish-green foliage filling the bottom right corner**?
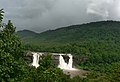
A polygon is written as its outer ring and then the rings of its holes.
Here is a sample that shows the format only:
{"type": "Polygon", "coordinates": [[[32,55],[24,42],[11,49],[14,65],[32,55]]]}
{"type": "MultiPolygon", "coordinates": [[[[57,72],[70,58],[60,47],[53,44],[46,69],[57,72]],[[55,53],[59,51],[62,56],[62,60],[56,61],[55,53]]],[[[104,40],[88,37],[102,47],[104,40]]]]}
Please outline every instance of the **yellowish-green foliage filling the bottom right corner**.
{"type": "Polygon", "coordinates": [[[112,64],[93,65],[88,75],[89,82],[119,82],[120,81],[120,62],[112,64]]]}

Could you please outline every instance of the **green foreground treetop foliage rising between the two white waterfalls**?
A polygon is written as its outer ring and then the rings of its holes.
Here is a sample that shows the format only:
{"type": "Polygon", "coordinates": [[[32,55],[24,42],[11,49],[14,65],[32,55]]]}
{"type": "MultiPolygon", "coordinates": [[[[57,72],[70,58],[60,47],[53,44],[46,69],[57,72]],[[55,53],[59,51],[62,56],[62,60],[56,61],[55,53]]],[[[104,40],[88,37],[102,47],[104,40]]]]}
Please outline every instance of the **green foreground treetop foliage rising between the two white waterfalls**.
{"type": "Polygon", "coordinates": [[[69,82],[69,76],[63,74],[51,59],[51,55],[42,56],[40,66],[36,69],[31,67],[22,82],[69,82]]]}

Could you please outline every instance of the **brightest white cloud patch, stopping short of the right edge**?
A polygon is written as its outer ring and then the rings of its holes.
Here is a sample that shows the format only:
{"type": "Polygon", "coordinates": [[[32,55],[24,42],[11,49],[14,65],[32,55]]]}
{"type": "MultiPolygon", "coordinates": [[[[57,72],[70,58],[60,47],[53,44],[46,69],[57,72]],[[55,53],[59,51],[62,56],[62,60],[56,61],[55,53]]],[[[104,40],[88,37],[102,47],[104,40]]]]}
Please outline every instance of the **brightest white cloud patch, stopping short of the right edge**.
{"type": "Polygon", "coordinates": [[[107,18],[109,16],[108,9],[113,3],[113,0],[91,0],[91,2],[88,4],[87,13],[96,14],[103,18],[107,18]]]}

